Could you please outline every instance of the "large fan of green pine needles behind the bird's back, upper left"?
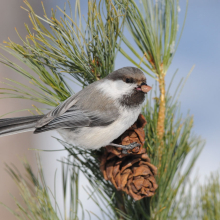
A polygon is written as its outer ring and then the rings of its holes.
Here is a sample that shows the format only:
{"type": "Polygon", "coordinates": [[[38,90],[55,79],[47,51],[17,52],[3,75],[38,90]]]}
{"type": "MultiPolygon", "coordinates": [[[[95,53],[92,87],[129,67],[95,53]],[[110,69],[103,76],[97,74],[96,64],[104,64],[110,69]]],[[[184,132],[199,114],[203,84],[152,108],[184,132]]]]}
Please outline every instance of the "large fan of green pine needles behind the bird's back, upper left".
{"type": "Polygon", "coordinates": [[[1,92],[5,95],[3,98],[30,99],[57,106],[73,94],[67,83],[68,75],[84,87],[113,71],[124,16],[111,1],[97,3],[89,0],[88,18],[85,22],[81,18],[79,0],[76,1],[75,19],[58,8],[63,14],[60,20],[56,18],[53,9],[52,17],[49,18],[42,4],[45,13],[43,18],[34,12],[28,1],[24,2],[28,7],[25,10],[29,13],[34,32],[26,25],[26,39],[22,39],[16,30],[23,45],[9,39],[4,42],[6,46],[1,45],[1,48],[23,62],[34,74],[4,56],[0,62],[27,78],[36,89],[9,80],[11,82],[7,86],[12,89],[1,88],[8,90],[1,92]],[[19,89],[16,84],[23,89],[19,89]]]}

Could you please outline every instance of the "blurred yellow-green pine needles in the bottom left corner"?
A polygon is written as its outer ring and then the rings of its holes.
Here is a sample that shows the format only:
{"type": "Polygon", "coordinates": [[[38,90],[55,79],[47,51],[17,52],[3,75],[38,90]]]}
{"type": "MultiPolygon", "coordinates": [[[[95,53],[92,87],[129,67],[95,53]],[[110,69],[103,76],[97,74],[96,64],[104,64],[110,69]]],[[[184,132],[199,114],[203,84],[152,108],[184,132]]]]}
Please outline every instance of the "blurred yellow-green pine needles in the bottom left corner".
{"type": "MultiPolygon", "coordinates": [[[[24,202],[24,205],[20,204],[16,198],[14,198],[17,211],[8,209],[20,220],[59,220],[60,213],[55,212],[53,208],[49,189],[45,185],[42,168],[39,166],[39,178],[36,178],[26,160],[23,161],[23,165],[28,179],[23,178],[15,167],[6,165],[6,170],[16,183],[24,202]]],[[[4,205],[3,203],[0,204],[4,205]]]]}

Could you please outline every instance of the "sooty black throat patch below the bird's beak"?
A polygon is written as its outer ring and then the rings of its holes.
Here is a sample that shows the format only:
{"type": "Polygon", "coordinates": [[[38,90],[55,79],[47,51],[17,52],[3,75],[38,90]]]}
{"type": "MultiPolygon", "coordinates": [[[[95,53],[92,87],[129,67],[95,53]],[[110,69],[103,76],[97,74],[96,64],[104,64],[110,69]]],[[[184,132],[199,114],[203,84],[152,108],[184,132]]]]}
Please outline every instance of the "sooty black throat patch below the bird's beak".
{"type": "Polygon", "coordinates": [[[124,95],[120,103],[126,107],[137,107],[144,102],[145,94],[141,91],[134,90],[130,95],[124,95]]]}

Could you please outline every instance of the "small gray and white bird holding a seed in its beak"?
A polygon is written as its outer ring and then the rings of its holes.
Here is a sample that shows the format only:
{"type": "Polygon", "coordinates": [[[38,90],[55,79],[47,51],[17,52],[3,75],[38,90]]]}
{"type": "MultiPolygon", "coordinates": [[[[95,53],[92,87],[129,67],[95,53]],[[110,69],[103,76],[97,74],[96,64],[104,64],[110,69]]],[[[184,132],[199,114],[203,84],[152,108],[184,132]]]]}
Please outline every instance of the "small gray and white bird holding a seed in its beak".
{"type": "Polygon", "coordinates": [[[126,150],[139,146],[111,143],[138,118],[151,90],[138,68],[124,67],[72,95],[46,115],[0,120],[0,136],[57,130],[68,143],[86,149],[112,145],[126,150]]]}

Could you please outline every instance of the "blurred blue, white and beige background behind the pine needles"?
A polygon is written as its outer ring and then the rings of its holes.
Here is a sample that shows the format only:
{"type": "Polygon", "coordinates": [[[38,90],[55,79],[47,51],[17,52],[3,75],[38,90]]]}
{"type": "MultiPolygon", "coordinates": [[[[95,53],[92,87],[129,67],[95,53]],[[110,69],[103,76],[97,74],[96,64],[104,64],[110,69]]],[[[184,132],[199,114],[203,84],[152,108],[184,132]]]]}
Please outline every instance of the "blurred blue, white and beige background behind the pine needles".
{"type": "MultiPolygon", "coordinates": [[[[59,5],[63,8],[65,1],[44,0],[44,5],[48,13],[50,9],[59,5]]],[[[74,1],[70,1],[74,5],[74,1]]],[[[87,1],[81,1],[82,14],[86,15],[87,1]]],[[[180,27],[185,13],[185,0],[180,0],[180,27]]],[[[35,12],[43,15],[41,0],[29,0],[35,12]]],[[[22,0],[1,0],[0,7],[0,42],[7,40],[8,37],[14,42],[20,43],[15,27],[22,37],[26,35],[24,23],[30,25],[28,13],[20,8],[25,6],[22,0]]],[[[173,83],[173,90],[180,79],[187,75],[191,67],[195,64],[195,69],[188,79],[184,90],[180,96],[181,110],[183,114],[194,115],[194,133],[206,139],[203,149],[194,172],[191,174],[193,179],[199,176],[199,181],[203,183],[206,176],[211,171],[220,170],[220,0],[191,0],[189,1],[188,15],[185,29],[180,41],[178,50],[173,59],[173,63],[167,73],[167,84],[176,69],[178,74],[173,83]]],[[[3,51],[1,53],[5,54],[3,51]]],[[[14,58],[14,62],[17,62],[14,58]]],[[[118,54],[115,68],[130,66],[131,64],[123,56],[118,54]]],[[[0,64],[0,81],[4,78],[19,79],[25,83],[22,77],[3,64],[0,64]],[[22,81],[23,80],[23,81],[22,81]]],[[[152,85],[153,79],[148,77],[148,83],[152,85]]],[[[0,85],[3,87],[3,85],[0,85]]],[[[79,88],[73,88],[76,92],[79,88]]],[[[30,108],[33,103],[18,99],[0,99],[0,116],[8,112],[19,109],[30,108]]],[[[39,106],[39,105],[37,105],[39,106]]],[[[16,117],[30,115],[27,111],[16,112],[5,117],[16,117]]],[[[35,151],[32,149],[57,150],[61,146],[51,136],[58,136],[56,132],[47,132],[33,135],[31,132],[17,134],[14,136],[0,138],[0,202],[5,203],[10,208],[15,209],[15,204],[11,195],[19,199],[18,190],[5,171],[4,163],[13,163],[18,170],[23,172],[20,159],[26,157],[36,169],[35,151]],[[11,194],[11,195],[10,195],[11,194]]],[[[61,183],[61,164],[58,159],[66,156],[64,151],[41,152],[42,166],[47,181],[47,185],[54,190],[54,175],[56,174],[57,201],[62,204],[62,183],[61,183]]],[[[81,175],[80,186],[88,183],[81,175]]],[[[82,189],[80,199],[84,208],[96,213],[96,207],[82,189]]],[[[62,206],[62,205],[61,205],[62,206]]],[[[98,209],[97,209],[98,210],[98,209]]],[[[4,207],[0,206],[0,219],[14,220],[15,217],[4,207]]]]}

